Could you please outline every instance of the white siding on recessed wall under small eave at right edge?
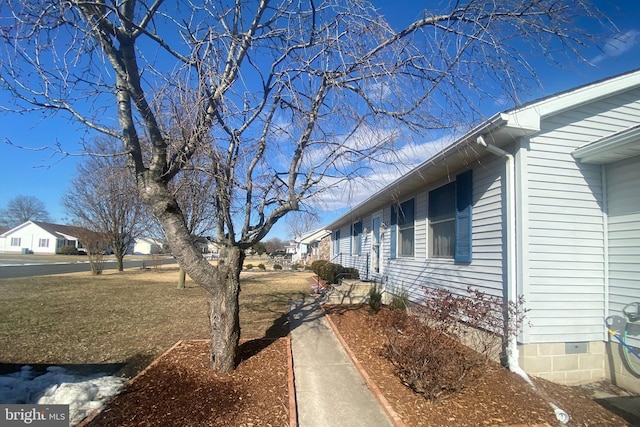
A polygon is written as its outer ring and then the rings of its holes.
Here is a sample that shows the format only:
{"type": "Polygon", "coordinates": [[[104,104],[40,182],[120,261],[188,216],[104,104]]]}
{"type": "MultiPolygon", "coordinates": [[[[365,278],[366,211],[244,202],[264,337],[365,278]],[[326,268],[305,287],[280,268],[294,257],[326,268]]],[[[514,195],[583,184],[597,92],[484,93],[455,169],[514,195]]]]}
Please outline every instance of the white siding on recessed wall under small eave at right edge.
{"type": "Polygon", "coordinates": [[[640,301],[640,157],[607,165],[606,171],[609,314],[621,316],[626,304],[640,301]]]}

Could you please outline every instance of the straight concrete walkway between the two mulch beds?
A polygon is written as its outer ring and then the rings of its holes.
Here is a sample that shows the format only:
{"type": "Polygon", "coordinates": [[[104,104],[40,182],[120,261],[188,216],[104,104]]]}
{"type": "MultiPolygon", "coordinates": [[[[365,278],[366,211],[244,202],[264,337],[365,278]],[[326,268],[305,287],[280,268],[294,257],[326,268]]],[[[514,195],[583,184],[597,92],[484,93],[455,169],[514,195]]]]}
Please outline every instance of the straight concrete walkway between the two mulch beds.
{"type": "Polygon", "coordinates": [[[392,426],[320,305],[294,301],[289,316],[298,426],[392,426]]]}

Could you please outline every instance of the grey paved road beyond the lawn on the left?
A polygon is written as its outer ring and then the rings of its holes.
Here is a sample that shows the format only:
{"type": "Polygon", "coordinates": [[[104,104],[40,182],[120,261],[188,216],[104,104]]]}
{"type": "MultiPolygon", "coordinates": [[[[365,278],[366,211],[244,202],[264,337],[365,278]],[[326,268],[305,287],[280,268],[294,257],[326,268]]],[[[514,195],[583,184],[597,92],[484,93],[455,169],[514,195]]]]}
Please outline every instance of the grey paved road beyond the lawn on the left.
{"type": "MultiPolygon", "coordinates": [[[[125,258],[124,268],[140,268],[143,264],[151,266],[155,263],[173,264],[176,260],[165,258],[160,260],[130,260],[125,258]]],[[[116,262],[109,260],[105,262],[105,270],[115,270],[116,262]]],[[[10,279],[15,277],[44,276],[49,274],[78,273],[90,271],[89,261],[82,262],[60,262],[60,263],[26,263],[0,261],[0,279],[10,279]]]]}

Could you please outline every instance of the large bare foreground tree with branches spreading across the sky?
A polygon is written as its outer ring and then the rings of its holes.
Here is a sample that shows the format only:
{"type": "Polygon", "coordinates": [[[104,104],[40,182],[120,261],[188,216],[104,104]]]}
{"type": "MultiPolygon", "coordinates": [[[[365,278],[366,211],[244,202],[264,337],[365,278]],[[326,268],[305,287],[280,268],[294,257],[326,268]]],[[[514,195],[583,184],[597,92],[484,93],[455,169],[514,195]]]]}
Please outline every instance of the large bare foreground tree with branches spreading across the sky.
{"type": "Polygon", "coordinates": [[[235,367],[245,249],[387,157],[400,132],[468,123],[478,100],[517,98],[533,72],[525,53],[576,52],[576,23],[594,13],[581,0],[461,0],[394,31],[360,0],[7,0],[3,10],[4,89],[24,110],[120,138],[173,255],[208,292],[220,371],[235,367]],[[163,120],[155,95],[166,91],[184,108],[163,120]],[[175,120],[188,129],[177,144],[175,120]],[[170,185],[194,156],[214,179],[218,267],[192,244],[170,185]]]}

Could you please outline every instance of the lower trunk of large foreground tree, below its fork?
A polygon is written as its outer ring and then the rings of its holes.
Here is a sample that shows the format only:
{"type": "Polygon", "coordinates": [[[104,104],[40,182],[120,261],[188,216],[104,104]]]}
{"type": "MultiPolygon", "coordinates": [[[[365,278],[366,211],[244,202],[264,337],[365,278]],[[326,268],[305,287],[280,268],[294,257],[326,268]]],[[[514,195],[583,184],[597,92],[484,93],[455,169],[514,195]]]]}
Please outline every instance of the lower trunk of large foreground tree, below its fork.
{"type": "Polygon", "coordinates": [[[208,289],[211,366],[219,372],[231,372],[236,366],[240,341],[240,271],[244,252],[230,248],[224,261],[217,269],[217,286],[208,289]]]}

